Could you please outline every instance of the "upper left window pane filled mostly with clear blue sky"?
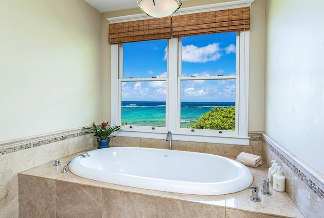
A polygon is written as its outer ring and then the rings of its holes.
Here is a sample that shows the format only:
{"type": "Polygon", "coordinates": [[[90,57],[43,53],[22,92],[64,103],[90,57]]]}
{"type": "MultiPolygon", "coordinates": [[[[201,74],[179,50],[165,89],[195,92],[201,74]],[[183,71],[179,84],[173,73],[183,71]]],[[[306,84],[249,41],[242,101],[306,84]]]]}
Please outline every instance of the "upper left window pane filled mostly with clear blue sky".
{"type": "Polygon", "coordinates": [[[167,77],[168,40],[125,43],[123,78],[167,77]]]}

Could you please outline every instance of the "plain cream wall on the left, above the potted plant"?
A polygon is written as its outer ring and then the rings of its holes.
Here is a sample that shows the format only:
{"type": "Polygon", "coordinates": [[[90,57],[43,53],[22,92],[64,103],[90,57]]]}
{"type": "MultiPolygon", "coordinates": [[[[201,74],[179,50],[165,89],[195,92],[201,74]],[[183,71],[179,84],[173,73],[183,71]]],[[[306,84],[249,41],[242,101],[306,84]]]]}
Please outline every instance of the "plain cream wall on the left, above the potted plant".
{"type": "Polygon", "coordinates": [[[101,14],[80,0],[0,7],[0,141],[101,121],[101,14]]]}

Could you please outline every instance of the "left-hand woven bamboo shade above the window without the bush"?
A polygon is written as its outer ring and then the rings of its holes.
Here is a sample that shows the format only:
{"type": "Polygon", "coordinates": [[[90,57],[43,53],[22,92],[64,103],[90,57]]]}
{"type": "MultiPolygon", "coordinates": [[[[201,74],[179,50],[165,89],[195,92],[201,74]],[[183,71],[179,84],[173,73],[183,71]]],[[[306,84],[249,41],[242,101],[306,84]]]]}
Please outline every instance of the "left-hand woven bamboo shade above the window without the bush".
{"type": "Polygon", "coordinates": [[[110,44],[171,39],[171,17],[109,24],[110,44]]]}

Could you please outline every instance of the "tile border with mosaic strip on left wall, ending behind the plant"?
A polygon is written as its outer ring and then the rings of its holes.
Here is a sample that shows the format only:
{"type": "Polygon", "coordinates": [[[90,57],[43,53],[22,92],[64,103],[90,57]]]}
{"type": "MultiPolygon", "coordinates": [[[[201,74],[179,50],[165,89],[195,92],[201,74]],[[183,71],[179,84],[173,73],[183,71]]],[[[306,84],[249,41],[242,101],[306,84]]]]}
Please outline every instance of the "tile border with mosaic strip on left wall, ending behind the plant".
{"type": "Polygon", "coordinates": [[[69,138],[74,138],[78,136],[85,135],[84,129],[76,129],[76,130],[67,130],[60,131],[56,134],[47,134],[42,137],[28,137],[27,139],[15,140],[13,142],[0,142],[0,155],[5,155],[13,152],[18,152],[25,149],[31,149],[38,146],[43,146],[44,144],[53,143],[56,141],[62,141],[69,138]],[[51,137],[52,136],[52,137],[51,137]],[[5,148],[1,148],[5,147],[5,148]]]}

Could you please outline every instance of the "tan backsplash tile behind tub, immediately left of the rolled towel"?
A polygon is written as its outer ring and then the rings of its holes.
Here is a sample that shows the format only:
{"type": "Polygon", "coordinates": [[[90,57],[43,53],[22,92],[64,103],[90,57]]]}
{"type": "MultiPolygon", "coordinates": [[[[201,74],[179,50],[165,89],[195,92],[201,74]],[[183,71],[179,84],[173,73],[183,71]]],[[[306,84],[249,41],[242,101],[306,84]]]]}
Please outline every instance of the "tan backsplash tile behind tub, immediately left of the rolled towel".
{"type": "Polygon", "coordinates": [[[243,147],[233,144],[206,143],[206,153],[225,157],[237,157],[243,151],[243,147]]]}

